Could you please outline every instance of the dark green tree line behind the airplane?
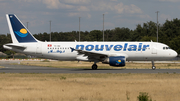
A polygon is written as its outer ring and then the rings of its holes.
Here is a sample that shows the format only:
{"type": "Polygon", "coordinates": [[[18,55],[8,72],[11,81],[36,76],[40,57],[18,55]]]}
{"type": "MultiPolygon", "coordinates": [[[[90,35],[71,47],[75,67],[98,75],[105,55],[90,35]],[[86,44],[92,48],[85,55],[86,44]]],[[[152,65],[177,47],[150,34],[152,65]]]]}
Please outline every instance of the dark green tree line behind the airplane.
{"type": "MultiPolygon", "coordinates": [[[[180,54],[180,19],[166,20],[164,24],[158,25],[158,42],[167,44],[180,54]]],[[[102,30],[81,31],[80,41],[102,41],[102,30]]],[[[49,33],[34,34],[40,41],[49,41],[49,33]]],[[[51,32],[51,41],[79,41],[79,31],[51,32]]],[[[117,27],[104,31],[104,41],[153,41],[157,40],[157,23],[149,21],[136,25],[134,30],[125,27],[117,27]]],[[[12,51],[5,50],[3,44],[11,43],[10,34],[0,35],[0,51],[11,54],[12,51]]]]}

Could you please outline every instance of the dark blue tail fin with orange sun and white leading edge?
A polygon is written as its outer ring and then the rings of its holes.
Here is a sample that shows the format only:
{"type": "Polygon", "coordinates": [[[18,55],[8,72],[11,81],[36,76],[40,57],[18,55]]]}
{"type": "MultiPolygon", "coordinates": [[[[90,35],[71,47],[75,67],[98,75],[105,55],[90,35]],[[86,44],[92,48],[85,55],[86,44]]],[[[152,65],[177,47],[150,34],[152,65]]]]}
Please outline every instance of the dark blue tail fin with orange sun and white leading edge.
{"type": "Polygon", "coordinates": [[[6,14],[13,43],[38,42],[15,14],[6,14]]]}

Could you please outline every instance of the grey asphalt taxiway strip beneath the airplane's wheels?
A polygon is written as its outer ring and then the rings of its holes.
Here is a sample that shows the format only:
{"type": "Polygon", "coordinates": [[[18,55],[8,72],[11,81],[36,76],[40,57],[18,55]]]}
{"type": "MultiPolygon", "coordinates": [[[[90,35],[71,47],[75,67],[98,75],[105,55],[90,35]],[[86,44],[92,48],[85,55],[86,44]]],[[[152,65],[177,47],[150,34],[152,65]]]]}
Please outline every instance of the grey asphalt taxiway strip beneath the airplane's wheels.
{"type": "MultiPolygon", "coordinates": [[[[0,73],[180,73],[180,69],[71,69],[40,66],[11,65],[13,61],[0,62],[0,73]]],[[[17,62],[14,62],[17,63],[17,62]]]]}

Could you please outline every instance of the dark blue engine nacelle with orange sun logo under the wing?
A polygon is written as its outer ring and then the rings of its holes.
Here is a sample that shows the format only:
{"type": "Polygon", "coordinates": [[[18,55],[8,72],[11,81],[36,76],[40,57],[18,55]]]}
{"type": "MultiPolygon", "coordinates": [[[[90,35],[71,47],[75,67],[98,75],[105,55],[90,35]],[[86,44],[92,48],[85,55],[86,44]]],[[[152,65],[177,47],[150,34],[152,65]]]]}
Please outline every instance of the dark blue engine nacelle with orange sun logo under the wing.
{"type": "Polygon", "coordinates": [[[106,63],[109,64],[110,66],[115,66],[115,67],[123,67],[125,66],[126,58],[124,56],[112,56],[112,57],[108,57],[102,63],[106,63]]]}

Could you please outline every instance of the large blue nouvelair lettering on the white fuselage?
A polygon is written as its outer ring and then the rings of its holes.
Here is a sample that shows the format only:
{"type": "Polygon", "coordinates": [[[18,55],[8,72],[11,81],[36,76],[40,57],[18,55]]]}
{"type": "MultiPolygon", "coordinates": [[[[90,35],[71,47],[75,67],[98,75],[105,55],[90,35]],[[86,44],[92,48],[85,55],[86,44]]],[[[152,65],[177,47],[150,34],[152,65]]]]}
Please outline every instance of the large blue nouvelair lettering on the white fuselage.
{"type": "Polygon", "coordinates": [[[81,50],[86,50],[86,51],[110,51],[112,48],[114,49],[114,51],[146,51],[146,48],[150,47],[150,45],[142,45],[142,43],[139,43],[139,45],[133,45],[130,44],[128,45],[128,43],[125,43],[124,45],[92,45],[92,44],[88,44],[88,45],[76,45],[76,49],[81,49],[81,50]]]}

